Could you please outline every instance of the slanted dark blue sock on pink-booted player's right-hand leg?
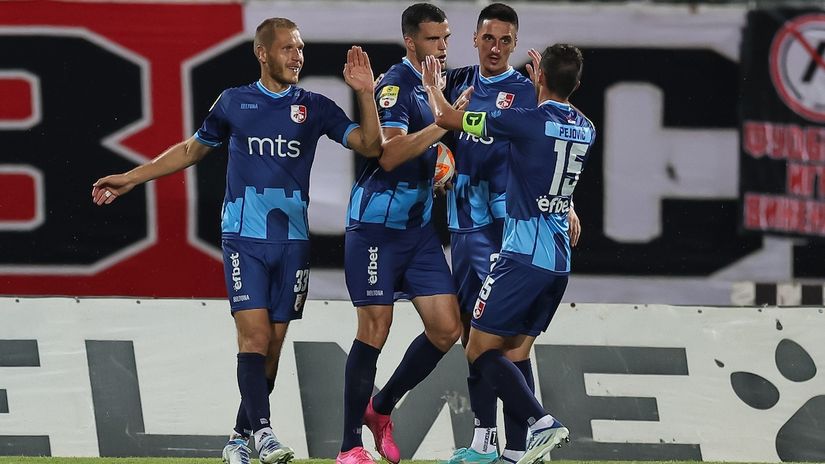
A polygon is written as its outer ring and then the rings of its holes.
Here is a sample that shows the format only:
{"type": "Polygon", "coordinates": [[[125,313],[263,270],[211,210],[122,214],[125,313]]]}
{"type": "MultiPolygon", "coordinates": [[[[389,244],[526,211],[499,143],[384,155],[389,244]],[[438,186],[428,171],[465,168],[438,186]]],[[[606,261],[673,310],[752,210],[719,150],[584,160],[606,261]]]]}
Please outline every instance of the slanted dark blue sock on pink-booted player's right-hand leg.
{"type": "Polygon", "coordinates": [[[405,393],[426,379],[444,357],[444,352],[436,348],[422,333],[410,343],[401,364],[395,368],[392,377],[372,400],[372,407],[378,414],[389,414],[405,393]]]}

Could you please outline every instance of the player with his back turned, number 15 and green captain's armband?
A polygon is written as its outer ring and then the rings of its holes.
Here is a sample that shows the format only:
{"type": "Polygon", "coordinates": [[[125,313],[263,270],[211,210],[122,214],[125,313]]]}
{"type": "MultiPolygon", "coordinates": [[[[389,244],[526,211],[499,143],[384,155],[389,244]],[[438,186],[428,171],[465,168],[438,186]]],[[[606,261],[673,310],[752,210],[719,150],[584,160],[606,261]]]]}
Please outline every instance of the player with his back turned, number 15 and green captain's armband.
{"type": "Polygon", "coordinates": [[[473,309],[467,359],[528,426],[527,450],[517,461],[540,460],[569,440],[569,430],[536,400],[524,374],[503,351],[532,344],[558,308],[570,272],[571,196],[595,139],[593,124],[568,99],[579,86],[582,55],[572,45],[530,51],[538,107],[459,111],[439,90],[441,65],[426,59],[423,79],[436,123],[476,137],[510,140],[504,241],[473,309]]]}

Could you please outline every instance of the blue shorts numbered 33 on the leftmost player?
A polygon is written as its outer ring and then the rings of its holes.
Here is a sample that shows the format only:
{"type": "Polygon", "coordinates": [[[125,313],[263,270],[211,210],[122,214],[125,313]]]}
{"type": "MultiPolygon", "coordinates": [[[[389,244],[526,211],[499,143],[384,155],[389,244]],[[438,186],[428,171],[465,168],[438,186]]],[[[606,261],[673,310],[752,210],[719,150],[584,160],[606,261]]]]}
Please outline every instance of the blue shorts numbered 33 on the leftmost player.
{"type": "Polygon", "coordinates": [[[223,240],[222,248],[233,313],[266,308],[271,322],[303,316],[309,287],[309,242],[223,240]]]}

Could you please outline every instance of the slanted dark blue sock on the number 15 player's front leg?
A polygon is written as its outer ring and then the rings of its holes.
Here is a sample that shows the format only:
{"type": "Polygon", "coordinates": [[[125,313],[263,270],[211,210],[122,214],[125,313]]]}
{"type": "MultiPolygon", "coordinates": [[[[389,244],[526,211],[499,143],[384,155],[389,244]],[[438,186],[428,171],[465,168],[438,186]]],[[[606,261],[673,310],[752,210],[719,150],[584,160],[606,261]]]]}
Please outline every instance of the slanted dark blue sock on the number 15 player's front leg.
{"type": "Polygon", "coordinates": [[[547,415],[530,391],[524,375],[501,351],[485,351],[473,365],[515,420],[527,425],[547,415]]]}

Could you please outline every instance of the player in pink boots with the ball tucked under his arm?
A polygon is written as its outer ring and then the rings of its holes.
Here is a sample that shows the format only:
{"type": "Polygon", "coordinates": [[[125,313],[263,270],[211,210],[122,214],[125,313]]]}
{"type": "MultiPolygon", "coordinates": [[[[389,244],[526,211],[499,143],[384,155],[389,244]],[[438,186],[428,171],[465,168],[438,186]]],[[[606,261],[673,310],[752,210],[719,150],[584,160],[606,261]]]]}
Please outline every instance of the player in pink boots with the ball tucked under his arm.
{"type": "Polygon", "coordinates": [[[426,56],[444,62],[450,35],[444,12],[417,3],[401,17],[407,49],[376,89],[383,154],[368,160],[352,189],[347,218],[345,275],[357,308],[358,331],[344,379],[344,436],[338,464],[369,464],[362,425],[378,452],[400,459],[390,413],[401,397],[424,380],[461,334],[458,302],[444,252],[430,223],[436,150],[447,131],[433,124],[421,85],[426,56]],[[378,354],[389,335],[393,303],[412,300],[424,333],[410,344],[387,384],[370,398],[378,354]]]}

